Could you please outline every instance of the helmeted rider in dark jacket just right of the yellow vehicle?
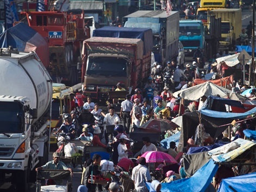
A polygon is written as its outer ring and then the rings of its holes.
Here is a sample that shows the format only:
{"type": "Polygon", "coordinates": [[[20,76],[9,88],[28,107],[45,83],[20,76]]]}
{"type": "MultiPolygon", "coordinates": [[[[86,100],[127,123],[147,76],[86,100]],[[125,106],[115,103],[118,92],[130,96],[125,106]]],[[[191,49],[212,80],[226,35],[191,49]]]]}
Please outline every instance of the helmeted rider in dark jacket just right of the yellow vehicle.
{"type": "Polygon", "coordinates": [[[75,125],[72,123],[71,114],[65,114],[63,116],[64,122],[62,123],[60,129],[58,129],[55,134],[62,131],[63,133],[67,134],[71,137],[71,140],[75,138],[75,125]]]}

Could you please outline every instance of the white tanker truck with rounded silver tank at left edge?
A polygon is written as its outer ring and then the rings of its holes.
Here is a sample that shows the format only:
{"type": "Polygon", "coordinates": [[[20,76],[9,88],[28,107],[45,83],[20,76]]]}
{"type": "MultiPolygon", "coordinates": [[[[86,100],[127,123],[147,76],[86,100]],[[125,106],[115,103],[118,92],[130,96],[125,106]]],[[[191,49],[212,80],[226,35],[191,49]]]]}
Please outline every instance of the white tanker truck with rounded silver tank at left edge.
{"type": "Polygon", "coordinates": [[[0,180],[18,191],[28,191],[30,174],[48,161],[51,101],[52,79],[39,57],[1,49],[0,180]]]}

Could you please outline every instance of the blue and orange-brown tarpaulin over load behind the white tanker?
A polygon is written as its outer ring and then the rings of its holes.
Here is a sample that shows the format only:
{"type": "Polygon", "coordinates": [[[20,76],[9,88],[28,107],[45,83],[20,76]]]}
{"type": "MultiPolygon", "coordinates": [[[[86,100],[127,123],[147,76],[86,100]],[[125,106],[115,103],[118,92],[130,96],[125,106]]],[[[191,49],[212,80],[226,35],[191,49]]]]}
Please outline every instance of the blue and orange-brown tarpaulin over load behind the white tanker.
{"type": "Polygon", "coordinates": [[[0,35],[1,48],[17,48],[18,51],[35,51],[43,65],[49,65],[49,48],[45,39],[34,29],[24,23],[18,23],[0,35]],[[22,31],[22,32],[21,32],[22,31]]]}

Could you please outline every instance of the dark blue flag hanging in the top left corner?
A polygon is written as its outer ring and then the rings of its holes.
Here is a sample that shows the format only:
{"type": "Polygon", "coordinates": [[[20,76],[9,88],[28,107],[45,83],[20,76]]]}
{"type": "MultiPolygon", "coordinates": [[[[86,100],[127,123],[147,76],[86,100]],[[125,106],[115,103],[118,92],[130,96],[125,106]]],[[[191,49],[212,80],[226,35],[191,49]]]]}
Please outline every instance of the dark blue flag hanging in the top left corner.
{"type": "Polygon", "coordinates": [[[13,0],[4,0],[5,23],[7,29],[11,28],[13,23],[18,21],[18,14],[13,0]]]}

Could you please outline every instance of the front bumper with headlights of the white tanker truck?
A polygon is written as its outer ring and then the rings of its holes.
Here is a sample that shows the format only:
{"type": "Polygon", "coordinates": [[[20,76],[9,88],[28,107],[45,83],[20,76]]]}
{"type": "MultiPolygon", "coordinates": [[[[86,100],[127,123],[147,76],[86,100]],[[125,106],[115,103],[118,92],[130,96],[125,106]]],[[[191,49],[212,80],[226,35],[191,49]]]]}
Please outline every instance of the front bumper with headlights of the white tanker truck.
{"type": "Polygon", "coordinates": [[[14,170],[24,170],[25,160],[1,160],[0,171],[12,173],[14,170]]]}

